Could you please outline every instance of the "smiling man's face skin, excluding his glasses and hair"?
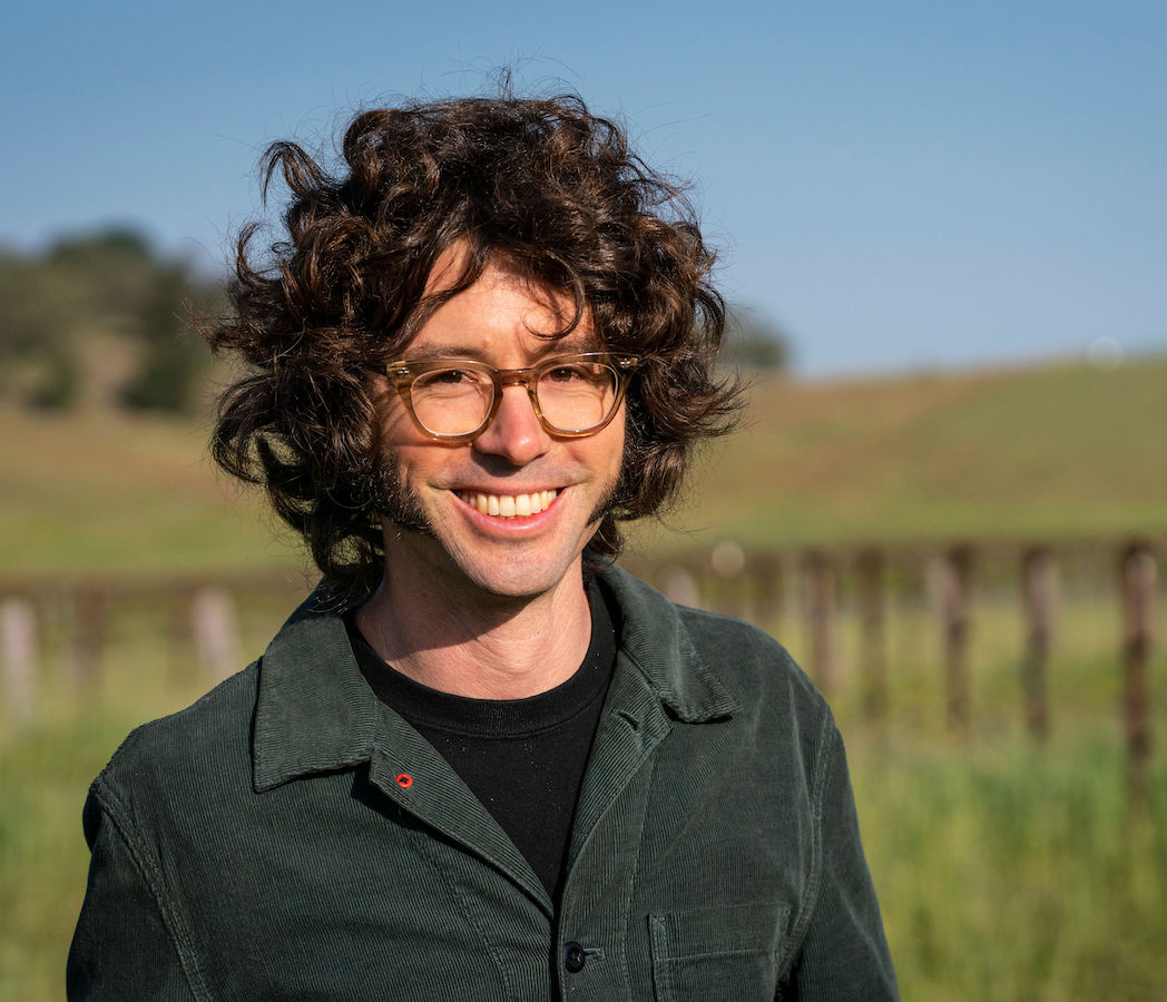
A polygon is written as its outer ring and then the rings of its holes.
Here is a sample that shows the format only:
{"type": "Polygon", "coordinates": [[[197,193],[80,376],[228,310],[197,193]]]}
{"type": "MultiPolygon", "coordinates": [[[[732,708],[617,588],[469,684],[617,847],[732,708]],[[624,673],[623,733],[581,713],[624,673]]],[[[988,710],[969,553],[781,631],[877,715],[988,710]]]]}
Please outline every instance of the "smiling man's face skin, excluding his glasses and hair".
{"type": "MultiPolygon", "coordinates": [[[[459,264],[456,253],[442,255],[427,292],[452,283],[459,264]]],[[[491,265],[438,309],[401,355],[523,369],[555,355],[602,350],[587,318],[562,339],[537,336],[561,329],[569,307],[567,297],[531,289],[491,265]]],[[[557,437],[539,423],[525,387],[508,386],[487,430],[469,444],[450,446],[425,437],[390,391],[384,441],[391,583],[534,596],[568,572],[578,575],[580,554],[620,475],[624,413],[621,405],[595,435],[557,437]],[[538,499],[533,505],[531,495],[538,499]],[[544,504],[533,514],[508,514],[544,504]]]]}

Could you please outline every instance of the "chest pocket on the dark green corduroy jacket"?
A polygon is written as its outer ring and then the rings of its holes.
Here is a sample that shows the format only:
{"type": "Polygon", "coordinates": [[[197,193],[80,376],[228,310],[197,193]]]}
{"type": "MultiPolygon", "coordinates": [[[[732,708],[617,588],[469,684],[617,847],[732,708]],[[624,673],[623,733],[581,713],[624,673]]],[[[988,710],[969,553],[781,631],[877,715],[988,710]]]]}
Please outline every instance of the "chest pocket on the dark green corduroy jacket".
{"type": "Polygon", "coordinates": [[[789,917],[781,902],[650,915],[655,997],[773,1000],[789,917]]]}

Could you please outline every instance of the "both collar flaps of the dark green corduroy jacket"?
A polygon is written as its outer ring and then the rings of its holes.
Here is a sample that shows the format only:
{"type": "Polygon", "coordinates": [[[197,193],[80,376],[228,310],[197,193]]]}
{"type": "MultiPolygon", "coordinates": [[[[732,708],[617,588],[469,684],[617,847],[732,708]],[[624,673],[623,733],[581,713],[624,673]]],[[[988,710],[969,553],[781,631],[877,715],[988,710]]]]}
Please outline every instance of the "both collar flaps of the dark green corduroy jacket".
{"type": "MultiPolygon", "coordinates": [[[[672,602],[615,565],[600,576],[616,600],[620,652],[672,716],[703,723],[740,708],[701,660],[672,602]]],[[[344,622],[329,609],[322,582],[292,614],[259,663],[256,791],[369,762],[379,720],[380,703],[357,667],[344,622]]]]}

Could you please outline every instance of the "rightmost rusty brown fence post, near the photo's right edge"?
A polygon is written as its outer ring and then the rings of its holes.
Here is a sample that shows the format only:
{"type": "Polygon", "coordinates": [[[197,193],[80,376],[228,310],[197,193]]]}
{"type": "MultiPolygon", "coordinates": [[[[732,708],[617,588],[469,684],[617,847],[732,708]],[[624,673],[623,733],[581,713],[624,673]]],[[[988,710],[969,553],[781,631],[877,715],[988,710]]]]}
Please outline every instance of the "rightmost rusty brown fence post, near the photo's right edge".
{"type": "Polygon", "coordinates": [[[1126,790],[1132,811],[1147,801],[1151,762],[1151,698],[1147,665],[1153,640],[1155,559],[1141,542],[1123,552],[1123,730],[1126,736],[1126,790]]]}

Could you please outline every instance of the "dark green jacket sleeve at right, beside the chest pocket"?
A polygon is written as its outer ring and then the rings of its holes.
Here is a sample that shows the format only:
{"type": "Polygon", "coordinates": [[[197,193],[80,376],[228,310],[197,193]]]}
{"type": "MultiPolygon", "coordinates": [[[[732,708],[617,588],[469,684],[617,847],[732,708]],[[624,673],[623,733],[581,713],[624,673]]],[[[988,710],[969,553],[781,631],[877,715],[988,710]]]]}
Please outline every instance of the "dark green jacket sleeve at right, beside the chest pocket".
{"type": "Polygon", "coordinates": [[[896,1000],[895,971],[879,902],[859,839],[859,819],[843,738],[833,722],[824,741],[816,797],[813,905],[791,983],[781,999],[801,1002],[896,1000]]]}

